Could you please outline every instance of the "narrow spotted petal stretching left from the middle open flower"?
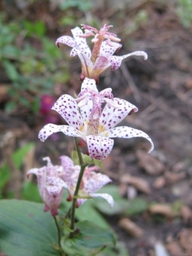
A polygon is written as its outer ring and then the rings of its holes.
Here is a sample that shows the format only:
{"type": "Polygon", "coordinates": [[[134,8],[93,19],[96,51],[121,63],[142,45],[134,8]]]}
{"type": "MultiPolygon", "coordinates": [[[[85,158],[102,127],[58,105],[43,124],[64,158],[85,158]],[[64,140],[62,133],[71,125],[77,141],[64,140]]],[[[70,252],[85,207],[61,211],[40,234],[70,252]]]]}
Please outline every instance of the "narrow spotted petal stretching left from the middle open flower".
{"type": "Polygon", "coordinates": [[[39,131],[38,138],[44,142],[51,134],[61,131],[67,136],[71,137],[81,137],[79,131],[72,126],[69,125],[53,125],[48,124],[44,125],[44,127],[39,131]]]}

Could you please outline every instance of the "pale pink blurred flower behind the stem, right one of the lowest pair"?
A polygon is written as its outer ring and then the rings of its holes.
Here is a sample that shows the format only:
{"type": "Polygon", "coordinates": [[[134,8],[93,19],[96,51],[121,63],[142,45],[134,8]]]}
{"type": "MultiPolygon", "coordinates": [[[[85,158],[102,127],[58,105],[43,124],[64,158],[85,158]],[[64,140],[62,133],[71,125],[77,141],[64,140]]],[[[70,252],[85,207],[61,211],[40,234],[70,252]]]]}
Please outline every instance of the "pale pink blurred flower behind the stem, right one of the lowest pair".
{"type": "MultiPolygon", "coordinates": [[[[67,201],[73,200],[74,191],[78,182],[80,166],[74,166],[73,160],[67,156],[61,156],[61,165],[65,170],[64,180],[67,183],[67,190],[69,193],[67,201]]],[[[111,207],[113,207],[113,197],[106,193],[96,193],[97,190],[102,189],[102,187],[110,183],[112,180],[100,172],[94,172],[98,168],[96,166],[86,167],[84,170],[84,176],[82,178],[80,189],[79,189],[79,198],[77,199],[77,207],[80,207],[84,201],[88,198],[102,197],[111,207]]]]}

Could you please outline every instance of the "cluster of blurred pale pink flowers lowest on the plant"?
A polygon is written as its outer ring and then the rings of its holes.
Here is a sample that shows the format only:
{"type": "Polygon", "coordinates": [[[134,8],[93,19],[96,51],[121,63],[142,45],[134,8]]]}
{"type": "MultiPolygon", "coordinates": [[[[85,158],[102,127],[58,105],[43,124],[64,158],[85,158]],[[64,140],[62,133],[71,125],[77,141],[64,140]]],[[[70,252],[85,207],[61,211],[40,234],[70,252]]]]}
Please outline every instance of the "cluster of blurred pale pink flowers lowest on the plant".
{"type": "MultiPolygon", "coordinates": [[[[52,215],[58,214],[64,188],[67,189],[69,194],[67,201],[73,200],[81,168],[80,166],[75,166],[73,160],[66,155],[62,155],[60,158],[61,166],[53,166],[49,157],[45,157],[44,160],[47,160],[47,166],[32,168],[27,172],[27,177],[30,174],[37,176],[38,189],[44,201],[44,211],[50,211],[52,215]]],[[[82,205],[87,198],[98,196],[104,198],[113,207],[113,197],[111,195],[95,193],[105,184],[111,182],[111,179],[107,175],[95,172],[97,169],[96,167],[85,168],[76,207],[82,205]]]]}

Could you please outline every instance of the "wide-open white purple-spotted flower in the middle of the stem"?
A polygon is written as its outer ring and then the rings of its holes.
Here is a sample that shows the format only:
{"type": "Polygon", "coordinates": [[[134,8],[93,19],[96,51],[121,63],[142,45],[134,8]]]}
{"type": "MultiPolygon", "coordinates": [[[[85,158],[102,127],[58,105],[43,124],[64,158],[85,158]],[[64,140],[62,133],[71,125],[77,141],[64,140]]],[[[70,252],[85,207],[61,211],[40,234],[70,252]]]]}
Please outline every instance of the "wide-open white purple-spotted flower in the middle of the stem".
{"type": "Polygon", "coordinates": [[[151,144],[148,152],[154,148],[145,132],[127,126],[115,127],[127,114],[137,112],[137,107],[123,99],[113,98],[110,88],[98,92],[94,79],[84,79],[77,99],[63,95],[52,109],[60,113],[68,125],[45,125],[38,135],[43,142],[51,134],[61,131],[67,136],[81,138],[87,144],[90,158],[98,160],[110,154],[113,137],[144,137],[151,144]]]}

